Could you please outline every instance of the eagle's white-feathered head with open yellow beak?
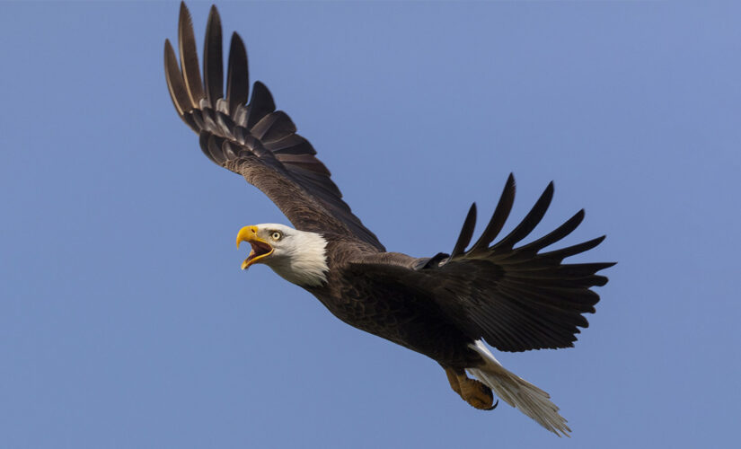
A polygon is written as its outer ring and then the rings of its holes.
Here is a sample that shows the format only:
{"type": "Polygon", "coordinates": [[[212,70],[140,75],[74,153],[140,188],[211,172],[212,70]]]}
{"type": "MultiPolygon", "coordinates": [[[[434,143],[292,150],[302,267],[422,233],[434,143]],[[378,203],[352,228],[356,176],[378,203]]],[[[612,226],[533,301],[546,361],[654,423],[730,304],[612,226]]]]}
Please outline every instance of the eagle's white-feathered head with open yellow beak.
{"type": "Polygon", "coordinates": [[[264,263],[298,286],[320,286],[327,280],[327,241],[322,234],[264,223],[240,229],[237,248],[242,242],[252,247],[250,255],[242,262],[242,269],[264,263]]]}

